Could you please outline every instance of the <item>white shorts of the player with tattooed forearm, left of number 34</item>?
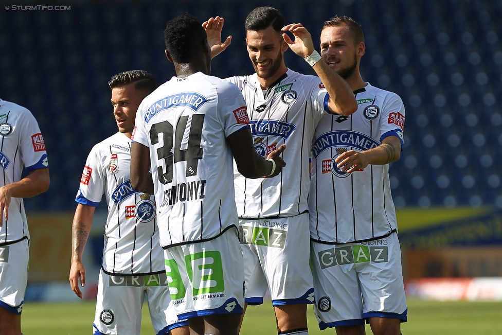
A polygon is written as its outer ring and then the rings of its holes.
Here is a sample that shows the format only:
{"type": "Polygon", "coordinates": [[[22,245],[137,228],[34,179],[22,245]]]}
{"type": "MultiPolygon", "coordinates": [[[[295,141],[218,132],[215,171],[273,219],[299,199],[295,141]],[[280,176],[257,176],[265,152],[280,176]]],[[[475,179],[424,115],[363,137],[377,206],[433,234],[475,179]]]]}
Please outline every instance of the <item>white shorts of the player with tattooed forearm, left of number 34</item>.
{"type": "Polygon", "coordinates": [[[139,334],[145,296],[157,335],[188,326],[186,320],[178,321],[174,312],[165,273],[119,276],[101,269],[93,334],[139,334]]]}

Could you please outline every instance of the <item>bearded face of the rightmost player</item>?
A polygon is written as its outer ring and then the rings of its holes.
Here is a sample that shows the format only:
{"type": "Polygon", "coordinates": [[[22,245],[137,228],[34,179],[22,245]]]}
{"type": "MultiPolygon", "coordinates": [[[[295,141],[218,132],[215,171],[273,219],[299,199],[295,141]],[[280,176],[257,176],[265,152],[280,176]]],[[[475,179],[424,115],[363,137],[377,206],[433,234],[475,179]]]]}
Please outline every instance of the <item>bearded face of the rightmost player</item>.
{"type": "Polygon", "coordinates": [[[364,54],[364,43],[355,43],[354,37],[346,25],[328,26],[321,31],[321,57],[344,78],[352,77],[364,54]]]}

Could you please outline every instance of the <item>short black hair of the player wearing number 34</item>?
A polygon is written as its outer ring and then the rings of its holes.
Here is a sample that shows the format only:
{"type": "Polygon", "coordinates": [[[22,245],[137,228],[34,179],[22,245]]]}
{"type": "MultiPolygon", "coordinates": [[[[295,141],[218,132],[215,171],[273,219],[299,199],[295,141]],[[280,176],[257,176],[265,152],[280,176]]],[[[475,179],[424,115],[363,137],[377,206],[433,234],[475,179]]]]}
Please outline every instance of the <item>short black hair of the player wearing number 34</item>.
{"type": "Polygon", "coordinates": [[[164,42],[174,63],[189,63],[207,39],[206,31],[195,16],[188,13],[168,21],[164,42]]]}

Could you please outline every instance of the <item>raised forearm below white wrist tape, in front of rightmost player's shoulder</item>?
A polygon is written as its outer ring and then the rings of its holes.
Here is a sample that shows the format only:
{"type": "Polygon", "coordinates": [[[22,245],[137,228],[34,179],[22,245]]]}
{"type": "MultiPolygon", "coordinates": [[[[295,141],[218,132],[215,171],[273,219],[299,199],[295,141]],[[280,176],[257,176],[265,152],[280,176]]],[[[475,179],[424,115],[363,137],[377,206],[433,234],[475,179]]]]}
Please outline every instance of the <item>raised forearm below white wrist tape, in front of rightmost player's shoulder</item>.
{"type": "Polygon", "coordinates": [[[347,82],[323,60],[316,62],[312,68],[328,91],[330,111],[345,116],[354,113],[357,110],[357,101],[347,82]]]}

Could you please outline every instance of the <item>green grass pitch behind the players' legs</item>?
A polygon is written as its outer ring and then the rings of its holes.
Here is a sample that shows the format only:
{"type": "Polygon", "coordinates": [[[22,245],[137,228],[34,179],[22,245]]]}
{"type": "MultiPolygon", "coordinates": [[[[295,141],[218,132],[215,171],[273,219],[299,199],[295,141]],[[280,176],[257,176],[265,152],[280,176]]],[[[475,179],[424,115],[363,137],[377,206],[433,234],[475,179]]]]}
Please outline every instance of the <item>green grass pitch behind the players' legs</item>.
{"type": "MultiPolygon", "coordinates": [[[[89,335],[94,320],[93,302],[25,304],[22,330],[25,335],[89,335]]],[[[320,331],[312,306],[308,309],[309,334],[335,334],[334,329],[320,331]]],[[[403,335],[500,335],[502,302],[408,301],[408,322],[403,335]]],[[[240,335],[275,334],[275,318],[270,302],[250,306],[240,335]]],[[[369,326],[366,333],[371,334],[369,326]]],[[[141,334],[154,335],[148,309],[143,308],[141,334]]]]}

